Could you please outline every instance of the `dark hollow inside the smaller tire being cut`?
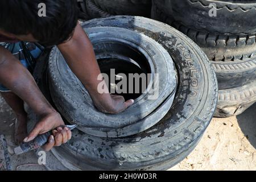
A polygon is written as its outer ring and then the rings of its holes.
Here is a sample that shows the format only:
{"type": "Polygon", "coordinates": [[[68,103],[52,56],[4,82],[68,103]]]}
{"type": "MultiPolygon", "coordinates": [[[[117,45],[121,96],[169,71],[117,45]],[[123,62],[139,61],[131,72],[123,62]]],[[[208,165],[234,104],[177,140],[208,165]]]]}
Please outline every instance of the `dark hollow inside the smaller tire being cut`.
{"type": "Polygon", "coordinates": [[[94,46],[98,47],[95,52],[101,72],[108,76],[105,81],[110,93],[114,91],[113,94],[123,96],[125,100],[136,100],[146,91],[150,81],[147,74],[151,69],[141,52],[117,42],[101,42],[94,46]],[[125,82],[122,84],[121,80],[125,82]]]}

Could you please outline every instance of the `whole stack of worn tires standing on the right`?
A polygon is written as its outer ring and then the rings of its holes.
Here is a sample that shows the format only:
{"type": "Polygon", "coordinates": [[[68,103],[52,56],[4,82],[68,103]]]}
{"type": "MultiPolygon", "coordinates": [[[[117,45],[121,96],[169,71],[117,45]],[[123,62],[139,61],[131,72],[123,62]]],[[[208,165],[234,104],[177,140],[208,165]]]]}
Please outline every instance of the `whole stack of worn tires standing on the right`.
{"type": "Polygon", "coordinates": [[[189,36],[208,56],[220,89],[216,117],[241,114],[255,103],[255,0],[153,0],[151,15],[189,36]]]}

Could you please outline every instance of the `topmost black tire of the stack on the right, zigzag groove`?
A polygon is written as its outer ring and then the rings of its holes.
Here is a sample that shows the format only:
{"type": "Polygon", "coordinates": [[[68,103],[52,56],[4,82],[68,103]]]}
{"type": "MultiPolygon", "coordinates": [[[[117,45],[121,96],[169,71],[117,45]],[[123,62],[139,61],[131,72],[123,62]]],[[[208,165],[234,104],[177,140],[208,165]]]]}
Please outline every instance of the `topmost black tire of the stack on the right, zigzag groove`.
{"type": "Polygon", "coordinates": [[[154,3],[168,17],[200,32],[256,34],[256,1],[154,0],[154,3]],[[216,4],[217,16],[209,16],[210,3],[216,4]]]}

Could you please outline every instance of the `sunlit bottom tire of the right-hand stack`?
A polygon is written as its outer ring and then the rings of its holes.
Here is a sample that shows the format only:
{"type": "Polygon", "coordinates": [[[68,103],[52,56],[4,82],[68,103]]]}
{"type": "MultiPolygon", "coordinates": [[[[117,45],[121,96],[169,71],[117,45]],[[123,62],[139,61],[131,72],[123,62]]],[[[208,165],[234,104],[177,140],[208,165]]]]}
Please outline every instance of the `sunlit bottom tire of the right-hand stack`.
{"type": "Polygon", "coordinates": [[[238,88],[219,90],[215,117],[231,117],[243,113],[256,102],[256,80],[238,88]]]}

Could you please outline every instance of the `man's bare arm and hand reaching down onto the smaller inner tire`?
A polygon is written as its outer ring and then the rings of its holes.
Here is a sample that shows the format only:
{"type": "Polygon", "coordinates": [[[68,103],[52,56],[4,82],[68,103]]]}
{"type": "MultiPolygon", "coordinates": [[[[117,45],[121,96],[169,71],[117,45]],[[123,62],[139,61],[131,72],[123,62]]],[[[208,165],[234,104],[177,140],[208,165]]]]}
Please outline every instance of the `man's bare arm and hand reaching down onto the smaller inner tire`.
{"type": "Polygon", "coordinates": [[[125,102],[121,96],[110,96],[109,93],[98,93],[97,80],[100,75],[100,68],[93,51],[92,43],[78,23],[70,40],[58,46],[69,67],[79,78],[96,107],[104,113],[120,113],[133,104],[133,100],[125,102]]]}

